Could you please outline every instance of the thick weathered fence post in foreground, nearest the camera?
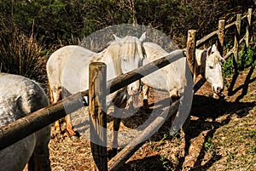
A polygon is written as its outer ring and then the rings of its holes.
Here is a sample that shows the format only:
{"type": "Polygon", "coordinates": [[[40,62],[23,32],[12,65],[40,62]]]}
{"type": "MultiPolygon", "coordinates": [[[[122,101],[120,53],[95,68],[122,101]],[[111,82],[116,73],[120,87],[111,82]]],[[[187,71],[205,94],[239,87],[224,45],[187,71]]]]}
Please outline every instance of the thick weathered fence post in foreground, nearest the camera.
{"type": "Polygon", "coordinates": [[[108,170],[106,81],[107,66],[94,62],[89,66],[90,148],[93,170],[108,170]]]}

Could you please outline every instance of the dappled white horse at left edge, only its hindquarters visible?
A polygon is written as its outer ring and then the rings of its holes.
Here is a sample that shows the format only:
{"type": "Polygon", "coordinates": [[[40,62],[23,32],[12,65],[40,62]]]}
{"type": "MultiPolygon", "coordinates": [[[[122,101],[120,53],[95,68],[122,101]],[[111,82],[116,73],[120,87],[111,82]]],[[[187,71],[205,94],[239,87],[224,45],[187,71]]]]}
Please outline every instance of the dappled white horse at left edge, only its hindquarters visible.
{"type": "MultiPolygon", "coordinates": [[[[44,90],[26,77],[0,73],[0,127],[49,105],[44,90]]],[[[50,126],[0,151],[1,170],[50,170],[50,126]]]]}

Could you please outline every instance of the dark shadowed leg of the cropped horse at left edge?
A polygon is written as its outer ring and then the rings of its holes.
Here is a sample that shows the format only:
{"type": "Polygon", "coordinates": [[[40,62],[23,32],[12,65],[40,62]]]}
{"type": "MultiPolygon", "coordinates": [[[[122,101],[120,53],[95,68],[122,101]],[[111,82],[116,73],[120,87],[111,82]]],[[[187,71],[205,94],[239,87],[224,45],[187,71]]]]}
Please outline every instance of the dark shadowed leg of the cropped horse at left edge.
{"type": "Polygon", "coordinates": [[[36,135],[36,145],[28,161],[28,171],[48,171],[50,169],[49,163],[49,139],[50,126],[44,127],[36,135]]]}

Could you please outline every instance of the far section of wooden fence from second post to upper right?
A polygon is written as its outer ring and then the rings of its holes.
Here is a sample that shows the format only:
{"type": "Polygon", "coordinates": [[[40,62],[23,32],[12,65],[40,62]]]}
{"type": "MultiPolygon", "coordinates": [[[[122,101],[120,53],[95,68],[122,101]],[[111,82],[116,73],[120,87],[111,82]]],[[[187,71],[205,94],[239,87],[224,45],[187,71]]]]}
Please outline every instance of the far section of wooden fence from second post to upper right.
{"type": "MultiPolygon", "coordinates": [[[[195,39],[195,30],[190,30],[189,35],[188,35],[188,43],[187,43],[187,58],[194,59],[195,55],[195,48],[200,48],[203,43],[207,43],[210,39],[218,36],[218,49],[221,54],[223,53],[224,50],[224,32],[230,29],[234,29],[235,27],[235,36],[234,36],[234,46],[233,48],[230,49],[230,52],[224,55],[224,60],[227,60],[231,54],[234,54],[234,60],[233,60],[233,65],[235,68],[235,72],[237,72],[237,60],[238,60],[238,52],[239,52],[239,45],[243,42],[245,42],[246,47],[249,46],[249,40],[250,36],[252,36],[252,14],[253,14],[253,9],[248,9],[247,14],[244,16],[241,16],[241,14],[236,14],[236,21],[228,24],[225,26],[225,20],[219,20],[218,21],[218,30],[217,31],[212,31],[210,34],[208,34],[205,37],[202,37],[200,40],[195,39]],[[241,21],[244,21],[247,23],[246,26],[246,32],[244,36],[241,36],[241,21]]],[[[194,61],[194,60],[193,60],[194,61]]],[[[190,70],[194,71],[194,66],[190,66],[190,70]]],[[[197,83],[195,83],[194,86],[194,93],[201,88],[201,86],[206,83],[205,78],[201,78],[197,83]]]]}

